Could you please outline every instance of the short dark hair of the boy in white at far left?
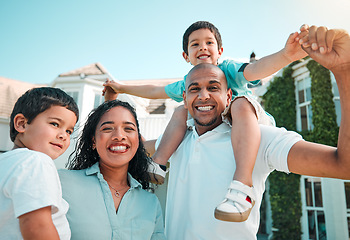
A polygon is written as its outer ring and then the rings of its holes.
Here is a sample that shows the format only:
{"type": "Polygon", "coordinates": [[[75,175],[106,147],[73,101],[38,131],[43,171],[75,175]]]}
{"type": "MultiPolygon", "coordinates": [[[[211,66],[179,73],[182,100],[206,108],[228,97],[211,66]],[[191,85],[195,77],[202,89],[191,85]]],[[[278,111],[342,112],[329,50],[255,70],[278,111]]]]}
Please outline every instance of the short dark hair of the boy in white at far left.
{"type": "Polygon", "coordinates": [[[46,111],[52,106],[66,107],[68,110],[74,112],[79,118],[79,109],[71,96],[59,88],[40,87],[32,88],[25,92],[18,98],[13,107],[10,117],[10,138],[15,141],[18,134],[14,126],[14,118],[17,114],[22,113],[30,124],[36,116],[46,111]]]}

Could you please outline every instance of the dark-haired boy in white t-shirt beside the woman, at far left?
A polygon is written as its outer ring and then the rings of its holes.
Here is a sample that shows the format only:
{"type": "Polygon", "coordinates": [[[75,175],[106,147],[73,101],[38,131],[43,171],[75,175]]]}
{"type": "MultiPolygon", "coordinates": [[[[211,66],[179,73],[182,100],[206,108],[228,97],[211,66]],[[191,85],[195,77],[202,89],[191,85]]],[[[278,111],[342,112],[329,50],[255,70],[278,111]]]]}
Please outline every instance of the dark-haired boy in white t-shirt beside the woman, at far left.
{"type": "Polygon", "coordinates": [[[70,239],[52,160],[67,150],[78,117],[73,98],[58,88],[34,88],[17,100],[14,147],[0,155],[0,239],[70,239]]]}

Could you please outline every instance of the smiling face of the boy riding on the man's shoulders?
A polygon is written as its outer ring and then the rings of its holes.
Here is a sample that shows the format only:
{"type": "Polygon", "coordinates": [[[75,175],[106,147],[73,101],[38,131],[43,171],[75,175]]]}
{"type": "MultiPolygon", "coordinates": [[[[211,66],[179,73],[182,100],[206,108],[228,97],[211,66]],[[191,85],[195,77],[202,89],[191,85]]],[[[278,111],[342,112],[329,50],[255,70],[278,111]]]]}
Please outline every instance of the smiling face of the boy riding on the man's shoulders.
{"type": "Polygon", "coordinates": [[[218,49],[214,34],[209,29],[199,29],[190,34],[188,38],[188,55],[182,55],[192,65],[211,63],[217,65],[223,48],[218,49]]]}

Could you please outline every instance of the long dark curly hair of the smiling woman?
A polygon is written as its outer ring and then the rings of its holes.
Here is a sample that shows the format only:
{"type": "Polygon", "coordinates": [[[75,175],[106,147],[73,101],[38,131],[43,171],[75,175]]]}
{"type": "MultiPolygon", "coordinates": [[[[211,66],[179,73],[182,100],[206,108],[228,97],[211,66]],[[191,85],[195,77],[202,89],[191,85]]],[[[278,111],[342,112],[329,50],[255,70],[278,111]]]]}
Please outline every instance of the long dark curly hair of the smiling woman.
{"type": "Polygon", "coordinates": [[[86,169],[100,160],[97,150],[93,148],[93,138],[95,136],[97,124],[107,111],[118,106],[129,110],[129,112],[134,116],[138,131],[139,147],[135,153],[135,156],[129,162],[128,172],[133,176],[133,178],[141,183],[143,189],[149,189],[150,177],[147,169],[151,159],[141,140],[140,128],[135,109],[127,102],[119,100],[108,101],[91,111],[75,146],[75,151],[69,156],[67,168],[71,170],[86,169]]]}

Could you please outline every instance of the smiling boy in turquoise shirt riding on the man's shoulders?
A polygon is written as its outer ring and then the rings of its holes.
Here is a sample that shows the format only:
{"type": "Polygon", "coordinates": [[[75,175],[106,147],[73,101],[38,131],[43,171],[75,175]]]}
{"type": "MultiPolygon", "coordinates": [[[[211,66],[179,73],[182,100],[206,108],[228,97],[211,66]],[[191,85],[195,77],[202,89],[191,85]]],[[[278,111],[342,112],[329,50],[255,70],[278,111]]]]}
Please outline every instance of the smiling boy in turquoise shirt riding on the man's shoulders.
{"type": "MultiPolygon", "coordinates": [[[[260,145],[259,124],[275,125],[273,117],[266,113],[253,98],[248,84],[257,84],[259,79],[270,76],[284,66],[305,57],[307,54],[302,50],[298,40],[299,34],[297,32],[291,34],[282,50],[254,63],[238,63],[233,60],[218,63],[223,47],[219,30],[213,24],[198,21],[193,23],[184,33],[183,57],[186,62],[192,65],[201,63],[218,65],[225,73],[228,88],[233,92],[232,101],[224,112],[224,119],[231,124],[231,132],[234,133],[231,134],[231,141],[236,171],[227,195],[215,209],[215,217],[219,220],[242,222],[248,218],[255,202],[252,191],[252,171],[260,145]]],[[[183,100],[185,79],[165,87],[124,85],[119,82],[107,81],[104,84],[104,93],[107,95],[105,98],[110,100],[119,93],[127,93],[151,99],[172,98],[180,102],[183,100]]],[[[196,91],[196,88],[191,88],[191,91],[196,91]]],[[[208,97],[198,95],[198,98],[206,99],[208,97]]],[[[194,109],[201,114],[206,114],[215,111],[215,107],[215,102],[213,102],[205,106],[194,106],[194,109]]],[[[183,106],[175,110],[159,147],[152,156],[156,164],[151,172],[154,173],[158,184],[163,183],[166,174],[165,165],[184,137],[187,128],[187,115],[187,110],[183,106]]],[[[211,121],[215,121],[215,119],[207,119],[198,124],[206,126],[211,121]]]]}

